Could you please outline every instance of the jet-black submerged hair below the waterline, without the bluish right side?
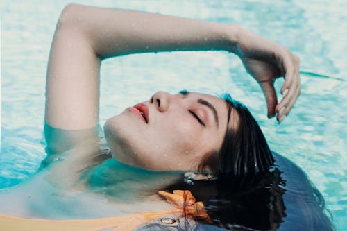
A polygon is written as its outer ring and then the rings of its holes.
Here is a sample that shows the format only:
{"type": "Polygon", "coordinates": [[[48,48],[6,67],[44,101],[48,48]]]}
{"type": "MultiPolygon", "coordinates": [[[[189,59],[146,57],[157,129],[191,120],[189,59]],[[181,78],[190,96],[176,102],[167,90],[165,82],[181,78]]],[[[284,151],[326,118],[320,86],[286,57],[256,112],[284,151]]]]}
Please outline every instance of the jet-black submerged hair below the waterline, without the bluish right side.
{"type": "Polygon", "coordinates": [[[212,221],[210,225],[240,231],[276,230],[286,216],[282,184],[280,171],[272,169],[253,176],[223,176],[191,182],[185,179],[164,190],[191,191],[196,200],[205,205],[212,221]]]}

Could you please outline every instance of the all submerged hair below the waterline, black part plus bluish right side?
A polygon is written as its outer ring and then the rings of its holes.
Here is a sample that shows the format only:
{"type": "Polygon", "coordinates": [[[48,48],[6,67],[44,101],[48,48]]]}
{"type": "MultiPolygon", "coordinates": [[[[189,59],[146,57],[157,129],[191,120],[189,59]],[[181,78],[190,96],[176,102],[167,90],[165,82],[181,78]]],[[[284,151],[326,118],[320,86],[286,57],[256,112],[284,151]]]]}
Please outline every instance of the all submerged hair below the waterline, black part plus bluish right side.
{"type": "MultiPolygon", "coordinates": [[[[203,202],[209,225],[223,230],[335,231],[324,198],[303,170],[273,153],[276,162],[268,171],[214,180],[183,178],[163,190],[189,190],[203,202]]],[[[189,215],[183,213],[189,219],[189,215]]],[[[199,223],[206,223],[194,217],[199,223]]],[[[185,230],[189,229],[189,225],[185,230]]],[[[201,229],[203,230],[203,229],[201,229]]],[[[210,230],[210,229],[206,229],[210,230]]],[[[219,229],[216,229],[219,230],[219,229]]]]}

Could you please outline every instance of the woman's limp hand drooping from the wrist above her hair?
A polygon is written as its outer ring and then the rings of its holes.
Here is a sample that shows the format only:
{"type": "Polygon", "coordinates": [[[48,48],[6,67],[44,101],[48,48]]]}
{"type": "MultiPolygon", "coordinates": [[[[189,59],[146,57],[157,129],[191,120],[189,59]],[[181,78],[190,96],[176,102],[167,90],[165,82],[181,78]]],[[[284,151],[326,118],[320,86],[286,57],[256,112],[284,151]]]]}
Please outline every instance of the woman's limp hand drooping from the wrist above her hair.
{"type": "Polygon", "coordinates": [[[281,122],[301,92],[298,56],[243,28],[240,28],[235,53],[241,58],[248,73],[260,84],[266,98],[267,116],[271,118],[277,113],[277,120],[281,122]],[[280,90],[283,98],[278,103],[273,83],[280,76],[285,77],[285,83],[280,90]]]}

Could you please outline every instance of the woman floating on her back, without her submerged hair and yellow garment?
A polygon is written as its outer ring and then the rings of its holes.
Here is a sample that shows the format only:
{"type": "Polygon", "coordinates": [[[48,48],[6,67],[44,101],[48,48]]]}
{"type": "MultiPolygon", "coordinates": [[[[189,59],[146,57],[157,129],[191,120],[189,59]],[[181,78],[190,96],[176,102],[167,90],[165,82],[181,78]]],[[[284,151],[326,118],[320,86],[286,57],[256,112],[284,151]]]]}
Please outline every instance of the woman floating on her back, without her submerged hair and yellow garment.
{"type": "MultiPolygon", "coordinates": [[[[15,205],[10,205],[9,196],[1,198],[3,207],[10,208],[6,212],[66,219],[169,209],[155,192],[180,180],[182,173],[188,185],[237,179],[242,195],[244,182],[248,191],[279,182],[276,171],[262,180],[273,155],[250,112],[230,96],[157,92],[108,119],[103,127],[107,147],[100,144],[101,60],[131,53],[207,50],[238,55],[264,92],[268,117],[285,119],[300,94],[300,80],[298,58],[282,46],[230,24],[67,6],[53,37],[47,71],[48,155],[40,174],[12,189],[15,205]],[[273,81],[280,76],[285,83],[278,103],[273,81]],[[109,152],[113,159],[103,155],[109,152]],[[146,200],[140,200],[144,196],[146,200]]],[[[232,197],[221,185],[217,182],[217,191],[232,197]]],[[[280,215],[271,222],[272,229],[285,216],[281,199],[274,201],[280,215]]]]}

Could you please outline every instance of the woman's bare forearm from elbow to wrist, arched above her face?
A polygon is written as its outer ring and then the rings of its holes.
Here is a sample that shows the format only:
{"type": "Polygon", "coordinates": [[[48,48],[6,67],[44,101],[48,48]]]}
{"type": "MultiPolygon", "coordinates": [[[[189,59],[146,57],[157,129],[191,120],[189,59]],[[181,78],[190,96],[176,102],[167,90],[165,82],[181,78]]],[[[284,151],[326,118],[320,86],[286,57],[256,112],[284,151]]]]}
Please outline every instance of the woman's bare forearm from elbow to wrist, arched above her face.
{"type": "Polygon", "coordinates": [[[160,51],[234,51],[237,26],[132,10],[69,5],[60,23],[82,33],[99,58],[160,51]]]}

